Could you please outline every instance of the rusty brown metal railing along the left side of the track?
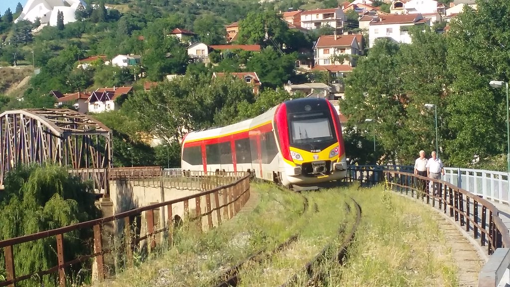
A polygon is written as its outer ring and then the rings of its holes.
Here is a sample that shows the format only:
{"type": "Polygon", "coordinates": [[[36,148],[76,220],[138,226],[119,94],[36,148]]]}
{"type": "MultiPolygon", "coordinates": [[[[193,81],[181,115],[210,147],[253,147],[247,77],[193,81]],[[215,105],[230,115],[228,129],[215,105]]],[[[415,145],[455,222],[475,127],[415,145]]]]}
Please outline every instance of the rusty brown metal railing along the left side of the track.
{"type": "MultiPolygon", "coordinates": [[[[125,173],[125,171],[122,171],[125,173]]],[[[139,176],[147,176],[150,173],[152,175],[156,175],[156,169],[152,171],[148,171],[147,173],[138,173],[139,176]]],[[[130,175],[135,175],[136,173],[131,173],[130,175]]],[[[222,180],[226,180],[227,176],[221,176],[222,180]]],[[[92,221],[82,222],[62,228],[57,228],[53,230],[47,230],[38,232],[35,234],[19,236],[15,238],[10,238],[8,240],[0,241],[0,248],[3,249],[5,255],[5,264],[6,264],[6,280],[0,281],[0,286],[9,286],[14,287],[17,282],[26,280],[31,278],[33,275],[37,274],[39,278],[42,278],[43,275],[47,274],[55,274],[58,273],[58,282],[61,287],[66,286],[66,269],[70,266],[74,266],[77,264],[81,264],[87,260],[93,260],[94,265],[96,266],[96,274],[97,279],[99,281],[103,281],[108,275],[105,272],[105,255],[112,252],[111,249],[105,248],[103,246],[103,230],[106,224],[112,224],[114,221],[121,221],[124,223],[124,232],[122,236],[122,240],[125,246],[125,256],[129,266],[133,266],[133,252],[138,243],[145,241],[148,250],[152,250],[156,248],[157,238],[156,234],[167,232],[168,236],[166,237],[166,242],[171,245],[172,244],[172,228],[173,228],[173,209],[174,207],[183,206],[184,215],[186,217],[190,217],[193,220],[198,220],[200,224],[207,224],[209,228],[214,226],[213,217],[216,220],[217,224],[220,224],[222,221],[231,219],[234,217],[241,207],[248,201],[250,196],[249,189],[249,180],[250,176],[245,175],[244,177],[231,178],[231,183],[222,185],[220,187],[212,188],[210,190],[206,190],[204,192],[200,192],[195,195],[191,195],[188,197],[170,200],[162,203],[152,204],[140,208],[136,208],[130,211],[122,212],[115,214],[114,216],[100,218],[92,221]],[[234,181],[232,183],[232,181],[234,181]],[[220,205],[220,200],[222,204],[220,205]],[[190,214],[190,209],[194,205],[195,214],[190,214]],[[156,221],[155,213],[160,210],[160,208],[166,208],[167,211],[167,222],[160,223],[156,221]],[[144,214],[146,218],[146,229],[145,234],[136,234],[136,230],[132,230],[132,218],[140,216],[144,214]],[[166,226],[165,226],[166,225],[166,226]],[[163,226],[159,230],[156,230],[159,226],[163,226]],[[90,254],[80,256],[78,258],[73,258],[71,260],[65,260],[64,252],[64,234],[75,231],[75,230],[83,230],[89,229],[93,231],[93,238],[91,238],[93,244],[90,244],[90,254]],[[133,234],[134,233],[134,234],[133,234]],[[47,237],[55,237],[56,238],[56,256],[58,257],[58,266],[54,266],[47,270],[39,270],[33,272],[31,274],[23,274],[16,275],[15,272],[15,260],[16,260],[16,252],[15,246],[23,243],[28,243],[35,240],[40,240],[41,238],[47,237]]],[[[213,182],[205,184],[204,187],[212,186],[213,182]]],[[[162,209],[164,210],[164,209],[162,209]]],[[[161,243],[163,243],[163,238],[161,238],[161,243]]],[[[19,258],[18,260],[23,260],[24,258],[19,258]]]]}

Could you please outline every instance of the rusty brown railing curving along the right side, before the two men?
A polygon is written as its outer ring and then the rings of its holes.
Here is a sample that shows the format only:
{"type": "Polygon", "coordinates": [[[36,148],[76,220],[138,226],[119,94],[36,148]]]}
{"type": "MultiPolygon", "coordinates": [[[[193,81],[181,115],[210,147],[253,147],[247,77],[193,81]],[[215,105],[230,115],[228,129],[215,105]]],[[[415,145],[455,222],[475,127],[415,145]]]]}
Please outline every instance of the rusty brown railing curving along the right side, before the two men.
{"type": "MultiPolygon", "coordinates": [[[[497,248],[510,247],[508,229],[499,218],[499,210],[488,200],[478,197],[465,189],[449,182],[412,173],[390,170],[350,170],[347,181],[362,181],[367,184],[387,182],[397,192],[421,199],[449,214],[455,222],[464,227],[466,232],[473,232],[475,239],[480,239],[482,247],[487,246],[487,253],[493,254],[497,248]],[[425,183],[425,190],[422,190],[425,183]],[[436,185],[438,195],[429,192],[429,184],[436,185]]],[[[433,188],[433,187],[432,187],[433,188]]]]}

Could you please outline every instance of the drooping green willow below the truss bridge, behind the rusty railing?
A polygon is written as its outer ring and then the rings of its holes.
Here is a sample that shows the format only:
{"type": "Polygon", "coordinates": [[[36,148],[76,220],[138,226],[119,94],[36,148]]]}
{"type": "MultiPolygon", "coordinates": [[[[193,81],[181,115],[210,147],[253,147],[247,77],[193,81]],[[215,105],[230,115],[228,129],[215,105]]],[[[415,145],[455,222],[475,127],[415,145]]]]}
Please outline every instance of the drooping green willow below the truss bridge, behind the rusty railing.
{"type": "MultiPolygon", "coordinates": [[[[5,190],[0,193],[0,240],[55,229],[100,217],[94,205],[90,184],[72,177],[63,166],[18,166],[5,178],[5,190]]],[[[64,239],[64,260],[90,254],[93,233],[90,229],[67,232],[64,239]]],[[[58,265],[55,237],[46,237],[14,246],[17,274],[30,274],[58,265]]],[[[0,254],[0,269],[5,270],[4,254],[0,254]]],[[[91,268],[85,263],[85,268],[91,268]]],[[[71,273],[83,265],[73,265],[71,273]]],[[[44,276],[41,283],[55,283],[57,275],[44,276]]],[[[42,277],[42,276],[41,276],[42,277]]]]}

